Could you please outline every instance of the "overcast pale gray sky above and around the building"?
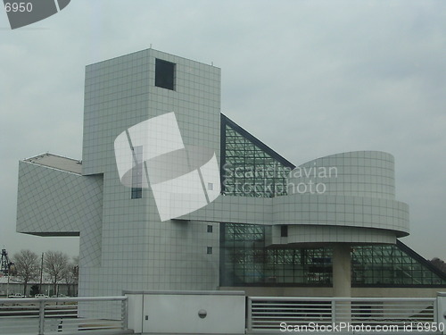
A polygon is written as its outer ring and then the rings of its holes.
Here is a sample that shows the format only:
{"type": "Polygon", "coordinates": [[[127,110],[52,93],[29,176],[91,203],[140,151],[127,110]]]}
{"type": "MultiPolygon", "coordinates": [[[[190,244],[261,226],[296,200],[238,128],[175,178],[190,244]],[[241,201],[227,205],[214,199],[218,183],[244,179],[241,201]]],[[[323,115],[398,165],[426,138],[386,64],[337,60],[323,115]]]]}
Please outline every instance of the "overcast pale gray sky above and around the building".
{"type": "Polygon", "coordinates": [[[82,157],[84,70],[153,48],[222,70],[222,112],[294,164],[395,156],[402,241],[446,259],[446,2],[72,0],[11,30],[0,10],[0,247],[78,254],[15,232],[18,162],[82,157]]]}

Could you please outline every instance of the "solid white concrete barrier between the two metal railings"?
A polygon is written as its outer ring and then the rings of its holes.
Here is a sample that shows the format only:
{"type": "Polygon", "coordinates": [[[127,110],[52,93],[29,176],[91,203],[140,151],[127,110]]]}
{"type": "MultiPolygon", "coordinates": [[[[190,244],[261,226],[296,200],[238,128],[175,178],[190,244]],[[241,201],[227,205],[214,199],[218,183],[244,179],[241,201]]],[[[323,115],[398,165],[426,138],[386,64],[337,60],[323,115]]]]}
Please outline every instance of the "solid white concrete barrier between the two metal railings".
{"type": "Polygon", "coordinates": [[[244,291],[125,291],[136,333],[243,334],[244,291]]]}

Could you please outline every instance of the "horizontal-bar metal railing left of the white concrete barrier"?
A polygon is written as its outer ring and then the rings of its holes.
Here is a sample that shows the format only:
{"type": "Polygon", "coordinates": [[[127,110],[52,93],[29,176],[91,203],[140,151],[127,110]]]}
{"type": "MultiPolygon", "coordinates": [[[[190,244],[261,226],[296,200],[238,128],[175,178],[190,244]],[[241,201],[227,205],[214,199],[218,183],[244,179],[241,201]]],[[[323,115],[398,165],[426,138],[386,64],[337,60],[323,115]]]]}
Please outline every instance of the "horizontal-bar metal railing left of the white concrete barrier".
{"type": "Polygon", "coordinates": [[[124,334],[127,297],[0,299],[0,334],[124,334]]]}

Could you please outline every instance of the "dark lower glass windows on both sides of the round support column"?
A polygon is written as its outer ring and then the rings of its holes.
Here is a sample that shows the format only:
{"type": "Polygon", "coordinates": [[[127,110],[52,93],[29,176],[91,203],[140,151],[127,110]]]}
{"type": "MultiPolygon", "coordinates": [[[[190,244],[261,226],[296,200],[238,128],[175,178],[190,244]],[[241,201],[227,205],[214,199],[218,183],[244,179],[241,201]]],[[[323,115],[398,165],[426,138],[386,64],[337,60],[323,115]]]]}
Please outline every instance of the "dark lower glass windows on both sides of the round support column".
{"type": "MultiPolygon", "coordinates": [[[[270,227],[261,225],[222,223],[220,233],[221,286],[332,285],[331,247],[266,247],[270,227]]],[[[353,247],[352,286],[446,285],[444,276],[410,253],[401,243],[353,247]]]]}

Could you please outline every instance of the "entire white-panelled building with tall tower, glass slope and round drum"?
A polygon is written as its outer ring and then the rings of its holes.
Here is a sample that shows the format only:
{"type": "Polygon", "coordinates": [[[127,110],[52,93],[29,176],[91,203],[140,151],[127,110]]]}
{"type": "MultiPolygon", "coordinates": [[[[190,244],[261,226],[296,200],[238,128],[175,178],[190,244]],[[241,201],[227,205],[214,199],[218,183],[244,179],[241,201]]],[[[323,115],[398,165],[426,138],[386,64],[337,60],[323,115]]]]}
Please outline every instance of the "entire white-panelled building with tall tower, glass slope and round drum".
{"type": "Polygon", "coordinates": [[[409,206],[395,199],[392,155],[296,167],[220,112],[217,67],[153,49],[88,65],[83,137],[82,161],[20,162],[17,211],[20,232],[79,236],[79,296],[430,297],[446,286],[399,240],[409,206]]]}

